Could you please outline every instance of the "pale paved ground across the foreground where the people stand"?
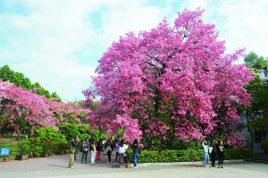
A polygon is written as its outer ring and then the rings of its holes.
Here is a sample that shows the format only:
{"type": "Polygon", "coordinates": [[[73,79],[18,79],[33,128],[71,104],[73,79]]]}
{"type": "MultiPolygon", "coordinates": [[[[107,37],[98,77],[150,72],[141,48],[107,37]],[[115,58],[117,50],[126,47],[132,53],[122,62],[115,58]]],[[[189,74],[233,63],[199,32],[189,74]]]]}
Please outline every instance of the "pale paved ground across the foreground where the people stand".
{"type": "MultiPolygon", "coordinates": [[[[80,160],[80,155],[78,156],[80,160]]],[[[0,163],[0,178],[178,178],[178,177],[198,177],[198,178],[266,178],[268,177],[268,165],[236,163],[228,164],[223,169],[202,167],[201,165],[169,165],[169,166],[146,166],[138,169],[118,168],[114,165],[106,164],[106,157],[102,157],[100,163],[96,165],[80,164],[77,161],[73,168],[68,169],[68,155],[32,158],[28,161],[12,161],[0,163]]]]}

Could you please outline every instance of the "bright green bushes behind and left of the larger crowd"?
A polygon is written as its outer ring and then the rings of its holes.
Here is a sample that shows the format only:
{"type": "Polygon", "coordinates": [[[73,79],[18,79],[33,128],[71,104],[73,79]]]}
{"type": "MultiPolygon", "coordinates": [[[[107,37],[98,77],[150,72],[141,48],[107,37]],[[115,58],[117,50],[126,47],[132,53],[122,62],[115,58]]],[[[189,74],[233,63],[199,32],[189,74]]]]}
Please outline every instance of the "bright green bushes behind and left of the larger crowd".
{"type": "Polygon", "coordinates": [[[29,140],[22,140],[20,150],[35,157],[66,154],[69,152],[70,140],[75,137],[80,140],[91,137],[99,140],[105,134],[101,131],[90,132],[87,124],[62,123],[59,129],[45,127],[34,131],[29,140]]]}

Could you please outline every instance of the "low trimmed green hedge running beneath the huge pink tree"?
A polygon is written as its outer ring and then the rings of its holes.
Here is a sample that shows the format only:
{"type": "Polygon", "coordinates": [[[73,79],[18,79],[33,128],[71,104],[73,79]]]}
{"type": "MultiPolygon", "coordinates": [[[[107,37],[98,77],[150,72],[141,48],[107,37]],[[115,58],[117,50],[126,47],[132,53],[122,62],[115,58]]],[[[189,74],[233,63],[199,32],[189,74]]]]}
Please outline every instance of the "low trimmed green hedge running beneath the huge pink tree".
{"type": "MultiPolygon", "coordinates": [[[[132,160],[132,151],[128,150],[128,157],[132,160]]],[[[224,159],[244,159],[251,155],[249,149],[225,149],[224,159]]],[[[163,162],[191,162],[203,160],[203,149],[184,149],[161,151],[142,150],[138,157],[139,163],[163,163],[163,162]]]]}

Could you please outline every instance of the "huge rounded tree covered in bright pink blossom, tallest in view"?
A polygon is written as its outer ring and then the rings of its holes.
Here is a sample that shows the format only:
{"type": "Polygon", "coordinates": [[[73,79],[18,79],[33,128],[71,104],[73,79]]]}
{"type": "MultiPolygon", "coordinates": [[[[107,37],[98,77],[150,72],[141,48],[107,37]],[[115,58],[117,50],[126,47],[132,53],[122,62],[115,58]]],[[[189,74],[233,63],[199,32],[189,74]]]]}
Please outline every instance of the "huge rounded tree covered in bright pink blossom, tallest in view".
{"type": "Polygon", "coordinates": [[[250,104],[244,85],[252,73],[233,64],[243,50],[224,55],[224,41],[202,13],[185,10],[173,25],[162,21],[114,42],[84,91],[87,104],[100,100],[88,123],[111,133],[123,127],[130,141],[166,131],[179,140],[202,140],[233,129],[237,108],[250,104]]]}

